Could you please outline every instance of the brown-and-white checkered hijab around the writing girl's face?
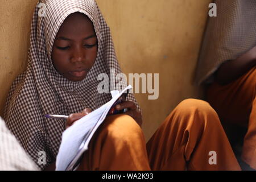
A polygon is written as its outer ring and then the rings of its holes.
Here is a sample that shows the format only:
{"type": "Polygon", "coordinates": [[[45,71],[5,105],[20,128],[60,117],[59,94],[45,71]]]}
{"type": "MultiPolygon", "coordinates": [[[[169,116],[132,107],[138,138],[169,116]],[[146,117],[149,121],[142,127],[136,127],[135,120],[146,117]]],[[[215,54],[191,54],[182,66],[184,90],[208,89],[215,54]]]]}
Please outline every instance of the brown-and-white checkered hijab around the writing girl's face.
{"type": "MultiPolygon", "coordinates": [[[[46,165],[38,164],[43,169],[54,162],[64,131],[63,121],[47,119],[44,115],[69,115],[79,113],[85,107],[97,109],[112,98],[111,94],[97,92],[97,86],[102,81],[98,81],[97,76],[106,73],[110,78],[110,69],[114,70],[114,75],[121,73],[121,69],[109,27],[94,0],[42,0],[39,3],[46,4],[46,14],[38,16],[39,7],[36,7],[27,70],[16,78],[11,87],[4,119],[36,163],[39,152],[46,152],[46,165]],[[98,39],[97,59],[86,78],[80,82],[68,81],[61,76],[51,61],[57,31],[65,18],[75,12],[89,17],[98,39]]],[[[127,100],[137,104],[133,94],[129,94],[127,100]]]]}

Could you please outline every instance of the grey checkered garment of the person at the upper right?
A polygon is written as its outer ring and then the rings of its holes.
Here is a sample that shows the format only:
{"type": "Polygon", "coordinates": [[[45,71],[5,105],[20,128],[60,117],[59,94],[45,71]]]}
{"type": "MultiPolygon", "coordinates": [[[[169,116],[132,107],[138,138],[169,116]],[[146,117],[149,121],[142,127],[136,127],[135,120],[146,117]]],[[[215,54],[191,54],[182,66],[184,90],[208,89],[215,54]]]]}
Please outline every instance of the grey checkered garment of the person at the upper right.
{"type": "Polygon", "coordinates": [[[197,64],[196,82],[213,80],[213,73],[256,46],[256,1],[216,0],[217,17],[209,17],[197,64]]]}

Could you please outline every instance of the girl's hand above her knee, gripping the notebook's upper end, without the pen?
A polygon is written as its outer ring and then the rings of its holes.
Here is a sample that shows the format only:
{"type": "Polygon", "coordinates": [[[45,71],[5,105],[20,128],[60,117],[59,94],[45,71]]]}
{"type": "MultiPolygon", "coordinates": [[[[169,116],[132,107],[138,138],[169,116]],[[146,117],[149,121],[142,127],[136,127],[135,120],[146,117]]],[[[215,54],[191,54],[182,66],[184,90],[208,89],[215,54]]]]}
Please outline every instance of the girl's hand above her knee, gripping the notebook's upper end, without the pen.
{"type": "Polygon", "coordinates": [[[127,108],[128,111],[126,111],[124,114],[130,115],[134,120],[138,123],[139,126],[142,125],[142,114],[141,111],[137,108],[137,106],[134,104],[133,101],[125,101],[121,104],[118,104],[115,106],[115,109],[122,110],[127,108]]]}

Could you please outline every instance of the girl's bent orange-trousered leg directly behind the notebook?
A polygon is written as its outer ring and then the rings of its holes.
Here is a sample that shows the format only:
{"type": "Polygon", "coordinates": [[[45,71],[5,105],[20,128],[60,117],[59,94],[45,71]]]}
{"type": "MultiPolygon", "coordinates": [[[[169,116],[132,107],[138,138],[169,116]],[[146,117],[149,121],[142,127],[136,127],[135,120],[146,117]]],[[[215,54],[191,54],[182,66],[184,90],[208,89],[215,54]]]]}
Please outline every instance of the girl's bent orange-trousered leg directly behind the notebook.
{"type": "Polygon", "coordinates": [[[150,170],[141,127],[129,115],[112,115],[96,131],[78,170],[150,170]]]}

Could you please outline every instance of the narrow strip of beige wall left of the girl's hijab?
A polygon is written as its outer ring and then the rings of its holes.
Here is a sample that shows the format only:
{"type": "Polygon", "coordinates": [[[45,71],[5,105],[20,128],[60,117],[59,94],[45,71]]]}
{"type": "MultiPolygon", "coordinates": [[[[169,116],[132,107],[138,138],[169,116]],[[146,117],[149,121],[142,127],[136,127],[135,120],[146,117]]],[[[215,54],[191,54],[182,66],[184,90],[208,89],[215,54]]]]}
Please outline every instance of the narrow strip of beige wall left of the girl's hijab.
{"type": "Polygon", "coordinates": [[[37,0],[1,0],[0,114],[16,76],[27,67],[30,24],[37,0]]]}

